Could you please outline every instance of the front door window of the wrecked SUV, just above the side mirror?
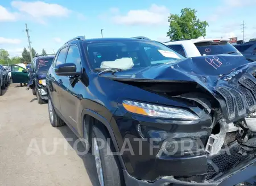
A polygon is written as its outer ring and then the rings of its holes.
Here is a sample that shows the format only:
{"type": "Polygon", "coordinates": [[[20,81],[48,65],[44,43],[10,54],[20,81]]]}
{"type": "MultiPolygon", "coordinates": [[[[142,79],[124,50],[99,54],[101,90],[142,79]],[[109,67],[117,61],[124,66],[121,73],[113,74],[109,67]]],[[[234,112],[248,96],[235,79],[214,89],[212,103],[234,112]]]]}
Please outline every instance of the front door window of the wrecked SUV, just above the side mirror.
{"type": "Polygon", "coordinates": [[[76,71],[81,72],[81,58],[77,46],[72,45],[69,47],[66,63],[75,63],[76,71]]]}

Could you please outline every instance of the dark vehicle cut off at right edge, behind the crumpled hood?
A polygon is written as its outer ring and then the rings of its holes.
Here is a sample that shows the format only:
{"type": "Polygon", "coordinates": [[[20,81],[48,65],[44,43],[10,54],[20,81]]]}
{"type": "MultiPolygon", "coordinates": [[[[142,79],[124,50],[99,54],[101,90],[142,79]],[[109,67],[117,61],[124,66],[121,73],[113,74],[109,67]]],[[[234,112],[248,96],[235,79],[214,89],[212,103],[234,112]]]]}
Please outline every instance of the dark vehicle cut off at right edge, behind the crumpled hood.
{"type": "Polygon", "coordinates": [[[256,61],[256,41],[237,44],[234,46],[246,57],[249,61],[256,61]]]}

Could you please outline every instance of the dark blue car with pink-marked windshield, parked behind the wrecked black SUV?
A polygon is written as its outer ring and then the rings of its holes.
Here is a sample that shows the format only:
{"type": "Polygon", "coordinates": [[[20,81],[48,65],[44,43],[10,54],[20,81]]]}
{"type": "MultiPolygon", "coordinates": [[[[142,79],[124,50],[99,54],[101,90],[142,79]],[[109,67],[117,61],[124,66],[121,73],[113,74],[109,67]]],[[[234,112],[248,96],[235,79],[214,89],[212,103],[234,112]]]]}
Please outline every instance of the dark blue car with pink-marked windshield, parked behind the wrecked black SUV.
{"type": "Polygon", "coordinates": [[[38,104],[45,104],[48,101],[46,75],[52,65],[54,56],[36,56],[28,69],[28,86],[32,89],[32,94],[36,95],[38,104]]]}

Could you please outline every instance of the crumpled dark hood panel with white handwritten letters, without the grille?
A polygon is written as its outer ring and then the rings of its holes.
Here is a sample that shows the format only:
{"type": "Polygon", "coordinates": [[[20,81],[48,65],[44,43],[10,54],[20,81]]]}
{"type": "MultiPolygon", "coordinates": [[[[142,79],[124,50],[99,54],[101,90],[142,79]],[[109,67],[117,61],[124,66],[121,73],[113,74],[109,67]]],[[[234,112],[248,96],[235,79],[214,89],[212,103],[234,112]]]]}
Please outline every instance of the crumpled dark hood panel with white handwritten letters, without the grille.
{"type": "Polygon", "coordinates": [[[216,80],[220,77],[253,65],[256,64],[249,63],[245,57],[238,55],[199,56],[179,60],[177,63],[134,68],[116,73],[103,73],[100,76],[121,81],[190,81],[210,88],[217,84],[216,80]]]}

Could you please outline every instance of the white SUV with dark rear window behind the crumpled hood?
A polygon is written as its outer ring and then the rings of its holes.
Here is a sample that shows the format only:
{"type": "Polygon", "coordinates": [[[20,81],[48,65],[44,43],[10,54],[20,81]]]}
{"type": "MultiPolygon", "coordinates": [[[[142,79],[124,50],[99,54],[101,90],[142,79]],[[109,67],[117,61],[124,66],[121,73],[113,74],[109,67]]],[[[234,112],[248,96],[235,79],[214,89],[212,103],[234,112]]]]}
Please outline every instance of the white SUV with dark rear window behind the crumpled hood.
{"type": "Polygon", "coordinates": [[[164,42],[166,46],[179,52],[185,57],[208,56],[217,54],[242,55],[229,39],[188,39],[175,42],[164,42]]]}

